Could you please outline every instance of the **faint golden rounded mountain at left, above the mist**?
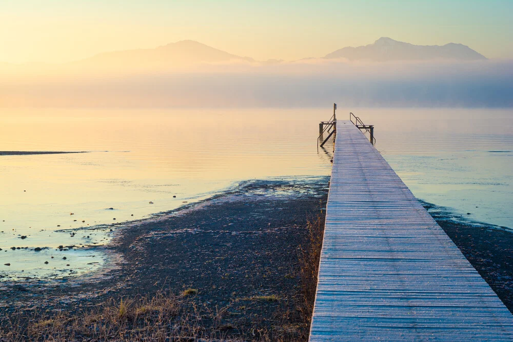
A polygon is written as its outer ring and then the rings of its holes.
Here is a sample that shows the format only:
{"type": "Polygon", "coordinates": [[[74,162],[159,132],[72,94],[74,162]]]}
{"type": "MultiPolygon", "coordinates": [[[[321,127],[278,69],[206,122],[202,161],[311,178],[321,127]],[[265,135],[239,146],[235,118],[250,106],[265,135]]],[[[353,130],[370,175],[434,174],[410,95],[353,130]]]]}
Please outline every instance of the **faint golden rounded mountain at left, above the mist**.
{"type": "Polygon", "coordinates": [[[71,62],[74,67],[108,67],[121,69],[168,69],[198,64],[224,62],[254,62],[253,58],[241,57],[214,49],[195,41],[180,41],[154,49],[135,49],[105,52],[81,61],[71,62]]]}

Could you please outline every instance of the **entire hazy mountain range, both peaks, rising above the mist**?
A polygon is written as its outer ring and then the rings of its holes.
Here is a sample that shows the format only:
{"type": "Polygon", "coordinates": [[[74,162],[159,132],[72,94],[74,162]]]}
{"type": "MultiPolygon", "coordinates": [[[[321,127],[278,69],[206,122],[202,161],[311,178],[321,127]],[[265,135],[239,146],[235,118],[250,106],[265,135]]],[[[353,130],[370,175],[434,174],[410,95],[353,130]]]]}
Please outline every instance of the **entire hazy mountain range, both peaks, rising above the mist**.
{"type": "Polygon", "coordinates": [[[399,42],[389,37],[381,37],[372,44],[359,47],[344,47],[324,57],[305,57],[296,61],[284,61],[283,59],[268,59],[257,61],[248,56],[239,56],[206,44],[186,39],[175,43],[157,46],[155,48],[127,49],[101,52],[90,57],[78,59],[66,63],[24,63],[13,64],[0,62],[0,67],[20,68],[23,66],[45,66],[89,70],[91,68],[105,68],[107,70],[153,69],[166,70],[173,68],[187,68],[194,65],[243,63],[259,65],[278,65],[308,61],[310,59],[347,59],[348,61],[428,61],[436,59],[453,59],[457,61],[473,61],[487,59],[482,54],[470,49],[468,46],[457,43],[439,45],[413,45],[399,42]]]}

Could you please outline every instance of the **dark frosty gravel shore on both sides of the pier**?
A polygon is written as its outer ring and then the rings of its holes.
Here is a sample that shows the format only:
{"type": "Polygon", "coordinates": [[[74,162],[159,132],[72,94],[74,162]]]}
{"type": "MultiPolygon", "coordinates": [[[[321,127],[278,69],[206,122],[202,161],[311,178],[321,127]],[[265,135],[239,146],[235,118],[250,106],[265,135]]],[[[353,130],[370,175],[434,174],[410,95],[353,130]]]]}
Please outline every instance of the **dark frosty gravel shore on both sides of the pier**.
{"type": "MultiPolygon", "coordinates": [[[[13,315],[80,313],[112,299],[192,289],[201,312],[226,309],[226,338],[251,339],[248,332],[260,329],[287,330],[292,340],[306,340],[298,253],[307,243],[307,218],[325,208],[328,180],[248,181],[128,224],[101,247],[112,268],[77,278],[0,283],[0,324],[13,315]]],[[[513,232],[423,205],[513,312],[513,232]]]]}

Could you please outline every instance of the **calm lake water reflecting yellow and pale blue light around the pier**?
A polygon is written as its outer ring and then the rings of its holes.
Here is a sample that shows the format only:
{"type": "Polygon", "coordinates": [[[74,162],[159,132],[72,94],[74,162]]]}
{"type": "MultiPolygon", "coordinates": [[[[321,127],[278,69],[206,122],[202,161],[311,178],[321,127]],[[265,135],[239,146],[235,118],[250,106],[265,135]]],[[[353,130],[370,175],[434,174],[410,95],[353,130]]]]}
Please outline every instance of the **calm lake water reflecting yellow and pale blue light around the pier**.
{"type": "MultiPolygon", "coordinates": [[[[513,110],[339,107],[338,118],[349,111],[376,125],[378,150],[417,197],[513,227],[513,110]]],[[[330,116],[329,107],[4,109],[0,150],[87,153],[0,156],[0,280],[95,269],[106,259],[94,246],[113,223],[242,180],[329,175],[331,147],[318,154],[316,138],[330,116]]]]}

